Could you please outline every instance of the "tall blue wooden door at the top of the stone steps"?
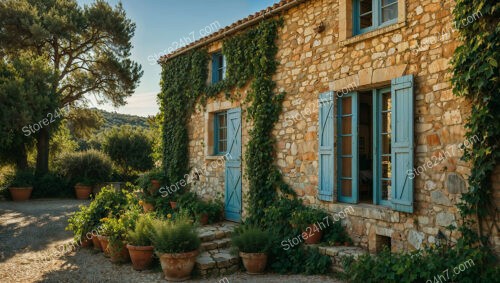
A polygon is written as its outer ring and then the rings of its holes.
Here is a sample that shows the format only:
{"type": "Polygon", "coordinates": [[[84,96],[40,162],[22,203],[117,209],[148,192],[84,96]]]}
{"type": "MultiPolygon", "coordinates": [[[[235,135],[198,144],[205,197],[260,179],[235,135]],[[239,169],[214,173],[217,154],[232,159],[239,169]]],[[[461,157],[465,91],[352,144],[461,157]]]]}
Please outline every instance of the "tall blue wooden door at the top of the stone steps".
{"type": "Polygon", "coordinates": [[[241,109],[227,112],[227,154],[225,170],[225,215],[241,220],[241,109]]]}

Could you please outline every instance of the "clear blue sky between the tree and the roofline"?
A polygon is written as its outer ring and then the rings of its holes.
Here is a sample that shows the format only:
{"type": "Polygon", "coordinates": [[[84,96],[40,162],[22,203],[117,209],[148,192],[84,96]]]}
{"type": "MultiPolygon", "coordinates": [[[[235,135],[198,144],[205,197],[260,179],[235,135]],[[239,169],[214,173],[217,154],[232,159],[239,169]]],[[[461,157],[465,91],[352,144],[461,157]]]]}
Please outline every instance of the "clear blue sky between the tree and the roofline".
{"type": "MultiPolygon", "coordinates": [[[[89,4],[93,0],[77,0],[89,4]]],[[[108,0],[116,5],[118,0],[108,0]]],[[[135,94],[124,107],[98,108],[140,116],[158,113],[156,94],[160,71],[156,58],[187,39],[199,39],[279,0],[122,0],[127,15],[136,24],[132,59],[142,65],[144,75],[135,94]]]]}

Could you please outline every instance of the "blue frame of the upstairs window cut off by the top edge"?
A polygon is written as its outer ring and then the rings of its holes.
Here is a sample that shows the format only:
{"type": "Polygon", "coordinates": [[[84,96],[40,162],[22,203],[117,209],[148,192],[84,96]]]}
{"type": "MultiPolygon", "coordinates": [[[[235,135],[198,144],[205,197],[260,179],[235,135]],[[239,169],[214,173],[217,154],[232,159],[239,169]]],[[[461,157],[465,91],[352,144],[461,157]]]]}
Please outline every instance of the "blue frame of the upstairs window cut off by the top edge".
{"type": "MultiPolygon", "coordinates": [[[[390,5],[394,5],[394,3],[386,5],[386,7],[390,5]]],[[[361,22],[360,22],[361,1],[353,0],[353,5],[352,5],[353,36],[364,34],[397,23],[399,18],[399,0],[396,1],[395,5],[396,5],[396,17],[386,22],[382,22],[382,0],[372,0],[372,25],[370,27],[361,28],[361,22]]]]}

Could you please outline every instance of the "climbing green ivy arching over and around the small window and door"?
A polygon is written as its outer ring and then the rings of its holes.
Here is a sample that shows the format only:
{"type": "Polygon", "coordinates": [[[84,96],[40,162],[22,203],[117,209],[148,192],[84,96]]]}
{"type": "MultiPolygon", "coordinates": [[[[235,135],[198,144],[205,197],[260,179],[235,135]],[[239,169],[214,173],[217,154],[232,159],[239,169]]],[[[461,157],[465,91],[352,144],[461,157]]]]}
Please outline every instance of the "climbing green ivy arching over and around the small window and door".
{"type": "Polygon", "coordinates": [[[294,194],[274,164],[272,137],[274,124],[281,112],[284,94],[274,93],[272,80],[277,68],[276,39],[282,20],[262,21],[258,26],[232,36],[223,42],[227,59],[227,77],[206,85],[209,56],[206,50],[195,50],[175,57],[163,65],[162,92],[159,95],[164,114],[163,164],[168,182],[175,183],[189,171],[187,123],[197,102],[218,93],[237,93],[250,82],[245,103],[252,127],[245,153],[246,176],[249,181],[251,219],[260,219],[263,209],[277,197],[277,189],[294,194]]]}

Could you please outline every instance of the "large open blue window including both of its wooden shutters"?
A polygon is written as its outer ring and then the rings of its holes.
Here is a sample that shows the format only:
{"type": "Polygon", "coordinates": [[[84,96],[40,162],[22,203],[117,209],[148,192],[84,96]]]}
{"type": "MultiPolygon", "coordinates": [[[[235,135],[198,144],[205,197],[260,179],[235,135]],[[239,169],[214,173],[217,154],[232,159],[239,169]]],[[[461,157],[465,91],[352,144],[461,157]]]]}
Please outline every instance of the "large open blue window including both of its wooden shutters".
{"type": "Polygon", "coordinates": [[[413,76],[393,79],[387,88],[339,95],[335,128],[331,104],[322,97],[318,198],[333,200],[336,191],[340,202],[413,212],[413,76]]]}

